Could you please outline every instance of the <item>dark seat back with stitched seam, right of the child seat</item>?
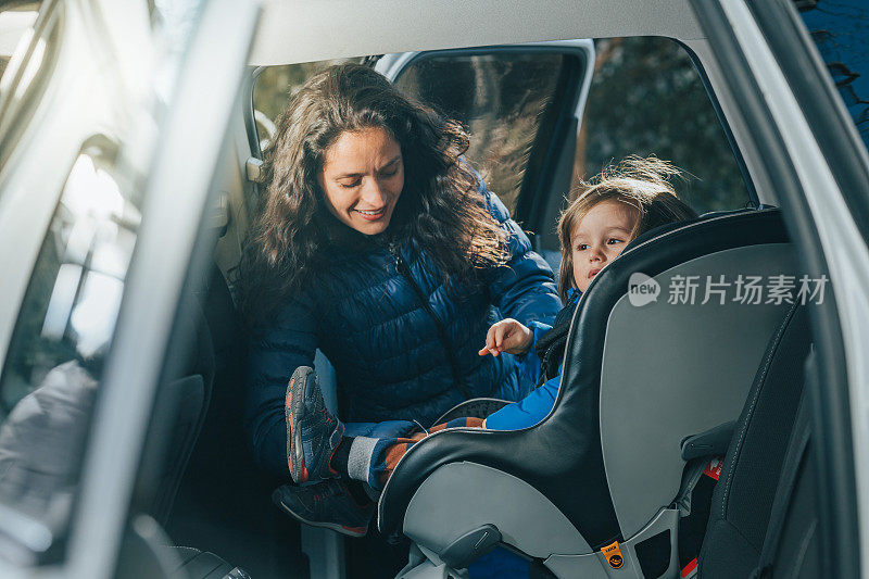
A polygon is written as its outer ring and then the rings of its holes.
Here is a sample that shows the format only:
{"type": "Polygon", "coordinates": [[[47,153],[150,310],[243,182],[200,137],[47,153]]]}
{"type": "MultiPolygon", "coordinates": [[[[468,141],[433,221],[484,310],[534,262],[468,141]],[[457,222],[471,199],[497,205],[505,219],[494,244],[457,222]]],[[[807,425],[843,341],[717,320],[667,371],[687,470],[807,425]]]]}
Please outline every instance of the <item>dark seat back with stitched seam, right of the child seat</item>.
{"type": "Polygon", "coordinates": [[[788,440],[805,383],[806,307],[770,340],[721,468],[703,550],[702,577],[748,577],[760,556],[788,440]]]}

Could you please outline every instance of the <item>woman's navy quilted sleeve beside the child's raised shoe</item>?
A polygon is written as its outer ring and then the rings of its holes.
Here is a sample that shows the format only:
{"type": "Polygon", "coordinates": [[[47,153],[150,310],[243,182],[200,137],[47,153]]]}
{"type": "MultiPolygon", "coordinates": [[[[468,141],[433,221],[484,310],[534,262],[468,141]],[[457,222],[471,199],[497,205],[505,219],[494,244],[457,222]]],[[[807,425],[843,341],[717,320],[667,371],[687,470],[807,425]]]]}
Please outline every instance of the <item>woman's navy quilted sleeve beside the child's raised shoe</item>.
{"type": "Polygon", "coordinates": [[[293,370],[314,365],[314,312],[313,303],[290,300],[249,342],[245,429],[260,467],[282,478],[290,476],[284,400],[293,370]]]}

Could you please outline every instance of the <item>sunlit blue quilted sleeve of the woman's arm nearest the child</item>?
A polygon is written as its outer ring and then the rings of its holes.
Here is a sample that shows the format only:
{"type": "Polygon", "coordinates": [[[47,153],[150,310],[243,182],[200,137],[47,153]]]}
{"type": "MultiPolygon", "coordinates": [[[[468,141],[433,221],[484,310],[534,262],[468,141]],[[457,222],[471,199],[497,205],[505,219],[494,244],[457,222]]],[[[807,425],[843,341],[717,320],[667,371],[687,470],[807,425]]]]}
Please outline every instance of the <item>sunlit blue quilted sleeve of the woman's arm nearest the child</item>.
{"type": "Polygon", "coordinates": [[[552,324],[562,309],[555,278],[549,264],[531,249],[531,241],[509,216],[504,203],[480,181],[480,193],[492,216],[507,234],[509,262],[495,269],[489,279],[492,302],[504,317],[552,324]]]}

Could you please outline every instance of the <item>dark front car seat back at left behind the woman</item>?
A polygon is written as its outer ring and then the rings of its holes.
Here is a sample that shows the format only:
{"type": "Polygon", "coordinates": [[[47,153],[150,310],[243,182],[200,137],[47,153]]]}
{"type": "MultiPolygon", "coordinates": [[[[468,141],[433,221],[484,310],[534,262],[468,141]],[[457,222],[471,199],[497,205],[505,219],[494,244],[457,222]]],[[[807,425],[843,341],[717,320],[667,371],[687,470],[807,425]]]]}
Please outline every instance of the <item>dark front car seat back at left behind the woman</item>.
{"type": "Polygon", "coordinates": [[[245,443],[244,333],[223,274],[214,266],[210,276],[197,299],[214,352],[214,386],[166,531],[176,544],[218,553],[253,577],[274,577],[305,567],[300,527],[270,501],[286,481],[257,468],[245,443]]]}

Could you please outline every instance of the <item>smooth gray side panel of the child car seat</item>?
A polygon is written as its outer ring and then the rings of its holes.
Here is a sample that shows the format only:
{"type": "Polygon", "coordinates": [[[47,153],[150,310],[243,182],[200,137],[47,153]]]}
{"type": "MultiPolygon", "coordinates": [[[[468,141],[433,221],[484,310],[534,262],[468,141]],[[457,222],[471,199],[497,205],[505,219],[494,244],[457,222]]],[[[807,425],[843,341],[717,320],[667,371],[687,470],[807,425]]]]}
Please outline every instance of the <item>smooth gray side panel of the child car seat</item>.
{"type": "Polygon", "coordinates": [[[606,479],[626,538],[648,523],[650,509],[672,501],[684,466],[681,441],[739,416],[788,307],[734,301],[732,288],[723,300],[709,293],[706,301],[704,286],[795,273],[790,243],[731,248],[653,276],[662,288],[657,301],[638,306],[634,295],[624,295],[616,302],[604,340],[600,421],[606,479]],[[704,281],[693,303],[667,295],[678,280],[692,278],[704,281]]]}

